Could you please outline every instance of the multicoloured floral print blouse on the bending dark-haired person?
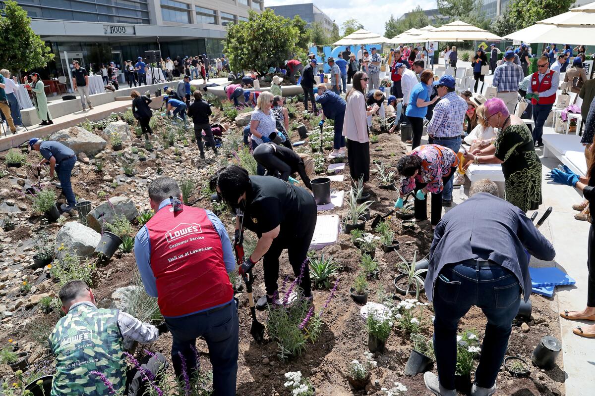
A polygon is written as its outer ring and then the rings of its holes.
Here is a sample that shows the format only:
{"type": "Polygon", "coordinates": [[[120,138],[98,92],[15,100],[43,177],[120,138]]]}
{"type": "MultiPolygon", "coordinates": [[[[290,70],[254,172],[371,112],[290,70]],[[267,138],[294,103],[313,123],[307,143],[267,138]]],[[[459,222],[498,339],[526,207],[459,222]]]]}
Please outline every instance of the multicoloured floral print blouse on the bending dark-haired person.
{"type": "Polygon", "coordinates": [[[415,182],[427,183],[425,189],[438,194],[444,188],[442,178],[449,176],[452,167],[459,165],[455,151],[438,144],[421,145],[409,153],[421,158],[421,170],[413,178],[401,180],[400,192],[406,195],[415,189],[415,182]]]}

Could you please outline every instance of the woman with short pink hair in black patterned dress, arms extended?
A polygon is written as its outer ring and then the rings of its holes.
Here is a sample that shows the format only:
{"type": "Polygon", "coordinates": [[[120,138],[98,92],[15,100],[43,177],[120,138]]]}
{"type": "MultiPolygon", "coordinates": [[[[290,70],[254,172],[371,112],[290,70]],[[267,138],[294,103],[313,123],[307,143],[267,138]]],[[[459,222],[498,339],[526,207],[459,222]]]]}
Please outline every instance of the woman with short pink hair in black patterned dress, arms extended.
{"type": "Polygon", "coordinates": [[[527,212],[537,210],[541,204],[541,161],[535,152],[531,132],[515,115],[511,115],[502,99],[493,98],[484,106],[484,121],[498,128],[494,144],[473,153],[465,159],[477,164],[502,164],[505,188],[504,198],[527,212]]]}

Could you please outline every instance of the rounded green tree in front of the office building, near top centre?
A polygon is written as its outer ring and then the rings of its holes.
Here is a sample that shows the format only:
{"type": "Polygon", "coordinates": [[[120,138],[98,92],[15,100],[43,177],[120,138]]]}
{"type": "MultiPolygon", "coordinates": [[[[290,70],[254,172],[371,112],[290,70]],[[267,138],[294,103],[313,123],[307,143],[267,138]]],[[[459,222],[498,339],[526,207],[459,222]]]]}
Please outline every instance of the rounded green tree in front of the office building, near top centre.
{"type": "Polygon", "coordinates": [[[264,72],[283,65],[297,52],[303,53],[309,37],[301,18],[289,20],[275,15],[272,9],[262,14],[250,9],[248,14],[248,21],[227,26],[224,51],[231,68],[264,72]]]}

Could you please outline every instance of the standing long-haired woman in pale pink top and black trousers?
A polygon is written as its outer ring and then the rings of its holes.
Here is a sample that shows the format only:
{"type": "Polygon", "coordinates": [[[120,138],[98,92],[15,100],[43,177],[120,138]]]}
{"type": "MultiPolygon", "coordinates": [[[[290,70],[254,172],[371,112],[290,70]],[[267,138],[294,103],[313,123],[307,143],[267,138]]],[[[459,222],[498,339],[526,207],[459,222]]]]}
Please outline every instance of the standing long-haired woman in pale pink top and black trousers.
{"type": "Polygon", "coordinates": [[[368,75],[363,71],[353,75],[353,88],[347,92],[343,136],[347,140],[347,159],[352,183],[364,179],[364,187],[370,188],[370,145],[367,117],[378,111],[378,104],[366,106],[365,88],[368,75]]]}

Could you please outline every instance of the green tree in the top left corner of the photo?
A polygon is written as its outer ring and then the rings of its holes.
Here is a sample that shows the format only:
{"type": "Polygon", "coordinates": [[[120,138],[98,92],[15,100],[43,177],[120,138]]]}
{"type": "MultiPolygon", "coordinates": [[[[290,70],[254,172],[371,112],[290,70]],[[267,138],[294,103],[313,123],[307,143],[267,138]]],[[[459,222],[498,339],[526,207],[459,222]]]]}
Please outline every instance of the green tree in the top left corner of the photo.
{"type": "Polygon", "coordinates": [[[0,12],[0,65],[13,73],[45,67],[54,59],[51,49],[30,25],[31,18],[23,8],[13,0],[4,0],[0,12]]]}

